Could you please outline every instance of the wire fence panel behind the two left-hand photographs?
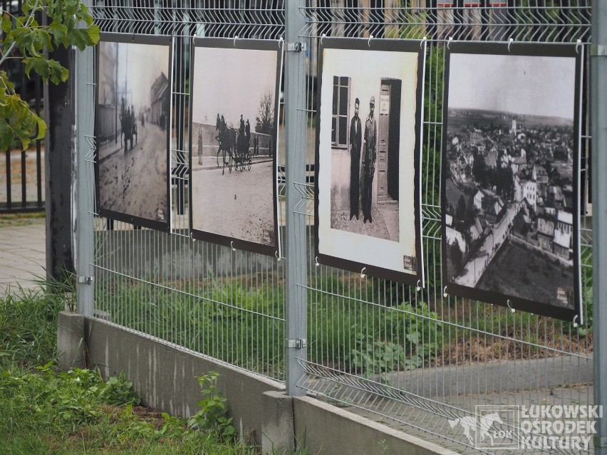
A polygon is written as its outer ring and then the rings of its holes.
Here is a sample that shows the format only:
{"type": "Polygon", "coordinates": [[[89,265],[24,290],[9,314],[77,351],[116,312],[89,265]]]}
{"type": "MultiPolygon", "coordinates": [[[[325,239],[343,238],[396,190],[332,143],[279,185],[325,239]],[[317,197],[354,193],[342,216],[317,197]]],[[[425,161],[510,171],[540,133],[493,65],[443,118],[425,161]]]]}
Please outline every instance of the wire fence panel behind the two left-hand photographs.
{"type": "Polygon", "coordinates": [[[284,2],[98,1],[92,11],[102,31],[175,38],[170,235],[95,216],[95,315],[284,380],[284,262],[192,241],[187,188],[192,36],[277,39],[284,2]]]}

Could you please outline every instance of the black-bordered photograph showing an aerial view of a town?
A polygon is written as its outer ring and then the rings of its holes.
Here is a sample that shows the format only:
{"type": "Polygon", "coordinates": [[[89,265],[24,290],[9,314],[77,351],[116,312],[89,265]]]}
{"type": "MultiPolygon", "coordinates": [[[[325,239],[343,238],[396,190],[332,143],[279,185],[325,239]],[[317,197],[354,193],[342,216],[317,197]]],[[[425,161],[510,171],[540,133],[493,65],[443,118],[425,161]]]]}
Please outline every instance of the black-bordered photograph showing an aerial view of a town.
{"type": "Polygon", "coordinates": [[[447,292],[579,315],[575,46],[452,43],[443,115],[447,292]]]}

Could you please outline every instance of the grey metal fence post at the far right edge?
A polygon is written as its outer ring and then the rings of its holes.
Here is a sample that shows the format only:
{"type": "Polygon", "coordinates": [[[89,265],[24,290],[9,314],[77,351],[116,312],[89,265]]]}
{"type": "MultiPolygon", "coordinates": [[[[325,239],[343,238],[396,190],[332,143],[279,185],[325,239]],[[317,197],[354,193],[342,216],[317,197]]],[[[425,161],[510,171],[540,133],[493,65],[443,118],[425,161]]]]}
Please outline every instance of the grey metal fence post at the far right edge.
{"type": "MultiPolygon", "coordinates": [[[[592,4],[592,305],[594,404],[607,412],[607,2],[592,4]]],[[[596,422],[595,454],[607,455],[607,415],[596,422]]]]}

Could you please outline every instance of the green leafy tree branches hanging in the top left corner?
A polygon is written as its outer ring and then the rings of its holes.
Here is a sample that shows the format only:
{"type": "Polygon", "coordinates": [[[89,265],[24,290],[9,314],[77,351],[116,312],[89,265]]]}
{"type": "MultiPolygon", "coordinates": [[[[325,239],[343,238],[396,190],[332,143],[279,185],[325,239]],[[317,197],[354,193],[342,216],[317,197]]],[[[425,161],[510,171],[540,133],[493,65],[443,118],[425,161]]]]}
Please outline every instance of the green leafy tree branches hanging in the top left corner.
{"type": "MultiPolygon", "coordinates": [[[[69,46],[83,51],[99,41],[99,27],[79,0],[25,0],[21,12],[22,16],[13,16],[2,11],[0,66],[8,59],[20,59],[28,78],[33,70],[44,82],[65,82],[68,70],[47,58],[46,53],[69,46]],[[36,20],[43,12],[48,16],[48,26],[36,20]]],[[[8,73],[0,70],[0,150],[19,144],[26,149],[31,140],[42,139],[45,133],[45,122],[21,100],[8,73]]]]}

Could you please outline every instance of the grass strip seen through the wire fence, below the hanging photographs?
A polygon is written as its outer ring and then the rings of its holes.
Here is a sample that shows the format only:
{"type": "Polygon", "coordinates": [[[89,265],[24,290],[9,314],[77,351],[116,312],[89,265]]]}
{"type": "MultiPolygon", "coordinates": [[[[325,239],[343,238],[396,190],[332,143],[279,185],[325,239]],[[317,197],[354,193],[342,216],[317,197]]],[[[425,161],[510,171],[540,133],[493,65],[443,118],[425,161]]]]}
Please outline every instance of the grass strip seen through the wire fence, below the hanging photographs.
{"type": "MultiPolygon", "coordinates": [[[[188,282],[171,291],[175,283],[114,276],[98,282],[96,306],[113,323],[284,380],[284,283],[266,280],[188,282]]],[[[312,362],[373,375],[421,366],[440,350],[440,322],[424,303],[412,307],[397,296],[386,308],[366,301],[385,294],[384,281],[323,276],[315,286],[307,305],[312,362]]]]}

